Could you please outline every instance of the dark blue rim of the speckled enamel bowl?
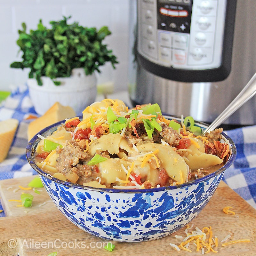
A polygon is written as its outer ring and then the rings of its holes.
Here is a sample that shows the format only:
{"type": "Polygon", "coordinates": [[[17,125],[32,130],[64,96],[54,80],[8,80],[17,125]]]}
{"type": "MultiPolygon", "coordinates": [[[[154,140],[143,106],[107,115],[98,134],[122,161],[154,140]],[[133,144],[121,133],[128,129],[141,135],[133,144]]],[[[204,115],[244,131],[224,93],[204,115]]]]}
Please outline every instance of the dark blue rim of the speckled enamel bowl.
{"type": "MultiPolygon", "coordinates": [[[[168,115],[168,114],[163,114],[164,117],[168,118],[168,119],[176,119],[176,120],[180,120],[181,118],[178,116],[173,116],[173,115],[168,115]]],[[[81,116],[79,117],[81,118],[81,116]]],[[[51,132],[54,132],[55,130],[53,130],[54,127],[57,127],[60,124],[65,123],[65,120],[62,120],[60,122],[54,123],[50,126],[47,126],[46,128],[44,128],[43,130],[41,130],[40,132],[38,132],[37,134],[44,134],[47,133],[50,129],[52,129],[51,132]]],[[[201,128],[205,129],[208,127],[208,124],[205,124],[203,122],[200,121],[196,121],[195,120],[195,124],[199,125],[201,128]]],[[[231,145],[230,151],[231,154],[228,158],[228,161],[222,166],[220,167],[217,171],[210,173],[209,175],[203,177],[203,178],[199,178],[197,180],[190,180],[186,183],[180,184],[180,185],[175,185],[175,186],[168,186],[168,187],[160,187],[160,188],[148,188],[148,189],[116,189],[116,188],[93,188],[93,187],[87,187],[87,186],[83,186],[83,185],[79,185],[76,183],[72,183],[72,182],[68,182],[68,181],[63,181],[63,180],[59,180],[57,178],[54,178],[50,173],[44,172],[42,169],[40,169],[35,161],[34,161],[34,157],[33,157],[33,149],[36,148],[37,143],[41,140],[39,137],[37,137],[37,134],[28,141],[28,145],[26,147],[26,157],[28,160],[28,163],[32,166],[32,168],[40,175],[44,176],[45,178],[47,178],[48,180],[52,180],[56,183],[59,183],[60,185],[64,185],[66,187],[71,187],[71,188],[78,188],[78,189],[83,189],[83,190],[92,190],[92,191],[98,191],[98,192],[105,192],[105,193],[132,193],[132,194],[137,194],[137,193],[152,193],[152,192],[160,192],[160,191],[166,191],[166,190],[173,190],[173,189],[177,189],[177,188],[183,188],[183,187],[187,187],[187,186],[191,186],[191,185],[196,185],[202,181],[207,181],[217,175],[219,175],[221,172],[224,172],[225,170],[228,169],[228,167],[231,166],[231,164],[233,164],[233,162],[236,159],[236,145],[233,142],[233,140],[231,138],[228,137],[228,135],[226,135],[225,133],[221,133],[222,137],[225,138],[225,140],[228,140],[228,143],[231,145]]]]}

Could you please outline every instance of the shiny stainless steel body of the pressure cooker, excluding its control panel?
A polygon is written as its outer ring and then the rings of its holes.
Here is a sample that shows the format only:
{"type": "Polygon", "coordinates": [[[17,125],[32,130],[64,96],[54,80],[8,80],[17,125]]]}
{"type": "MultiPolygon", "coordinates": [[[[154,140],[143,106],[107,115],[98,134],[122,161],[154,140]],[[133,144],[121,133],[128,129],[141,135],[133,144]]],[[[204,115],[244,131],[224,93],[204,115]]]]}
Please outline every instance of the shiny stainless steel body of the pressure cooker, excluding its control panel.
{"type": "MultiPolygon", "coordinates": [[[[137,1],[130,1],[129,95],[136,104],[158,103],[163,112],[193,116],[212,122],[243,89],[256,72],[255,0],[237,0],[228,78],[220,82],[184,83],[153,75],[136,58],[137,1]]],[[[225,124],[256,124],[256,97],[230,116],[225,124]]]]}

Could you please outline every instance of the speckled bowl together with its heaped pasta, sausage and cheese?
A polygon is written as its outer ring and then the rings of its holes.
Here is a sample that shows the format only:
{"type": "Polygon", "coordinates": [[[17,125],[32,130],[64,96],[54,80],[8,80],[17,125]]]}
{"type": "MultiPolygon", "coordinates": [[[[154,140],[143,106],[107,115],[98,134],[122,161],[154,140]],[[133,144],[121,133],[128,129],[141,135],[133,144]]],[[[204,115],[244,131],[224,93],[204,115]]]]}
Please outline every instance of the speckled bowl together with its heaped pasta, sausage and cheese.
{"type": "Polygon", "coordinates": [[[139,242],[167,236],[209,202],[236,158],[221,128],[191,116],[164,115],[158,104],[128,109],[95,102],[46,127],[26,148],[54,204],[101,238],[139,242]]]}

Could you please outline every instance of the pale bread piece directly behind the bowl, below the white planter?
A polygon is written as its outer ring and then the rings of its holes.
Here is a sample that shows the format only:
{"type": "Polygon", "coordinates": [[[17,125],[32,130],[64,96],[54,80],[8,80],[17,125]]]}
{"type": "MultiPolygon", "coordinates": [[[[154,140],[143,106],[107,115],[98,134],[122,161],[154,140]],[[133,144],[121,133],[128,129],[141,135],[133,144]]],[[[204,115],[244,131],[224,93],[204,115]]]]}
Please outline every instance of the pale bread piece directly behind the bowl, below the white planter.
{"type": "Polygon", "coordinates": [[[49,108],[43,116],[36,118],[28,125],[28,140],[31,140],[34,135],[40,132],[45,127],[57,123],[66,118],[75,117],[76,112],[71,107],[62,106],[56,102],[49,108]]]}

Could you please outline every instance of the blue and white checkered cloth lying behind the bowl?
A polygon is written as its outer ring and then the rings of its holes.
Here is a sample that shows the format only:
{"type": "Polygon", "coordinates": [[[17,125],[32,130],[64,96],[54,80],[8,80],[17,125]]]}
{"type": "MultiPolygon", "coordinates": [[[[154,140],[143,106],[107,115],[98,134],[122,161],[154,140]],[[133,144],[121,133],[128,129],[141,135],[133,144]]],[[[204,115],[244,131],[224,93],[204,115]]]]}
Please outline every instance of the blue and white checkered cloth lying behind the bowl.
{"type": "MultiPolygon", "coordinates": [[[[116,95],[108,96],[116,98],[116,95]]],[[[28,88],[24,85],[12,92],[0,108],[0,121],[8,118],[16,118],[20,121],[8,156],[0,163],[0,180],[36,174],[25,155],[29,115],[37,114],[29,98],[28,88]]],[[[237,157],[234,164],[224,173],[223,180],[256,208],[256,125],[225,133],[235,142],[237,157]]],[[[2,209],[1,205],[0,209],[2,209]]],[[[4,216],[4,212],[0,213],[0,216],[4,216]]]]}

